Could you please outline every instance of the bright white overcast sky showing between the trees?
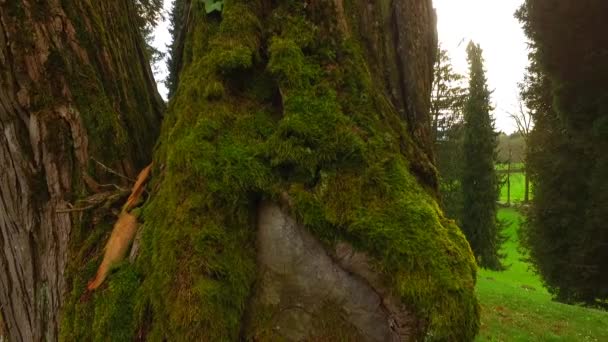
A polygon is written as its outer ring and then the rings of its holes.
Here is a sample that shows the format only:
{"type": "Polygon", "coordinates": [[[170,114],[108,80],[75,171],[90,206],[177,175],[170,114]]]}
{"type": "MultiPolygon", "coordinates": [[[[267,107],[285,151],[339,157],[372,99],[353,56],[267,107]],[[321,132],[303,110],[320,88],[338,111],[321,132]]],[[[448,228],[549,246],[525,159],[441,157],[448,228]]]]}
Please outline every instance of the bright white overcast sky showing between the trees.
{"type": "MultiPolygon", "coordinates": [[[[493,90],[496,129],[513,133],[515,124],[508,113],[517,111],[517,83],[523,80],[528,64],[526,37],[513,17],[524,0],[433,0],[437,10],[437,30],[442,48],[448,50],[454,69],[466,75],[466,46],[469,40],[483,49],[488,86],[493,90]]],[[[165,0],[165,20],[155,30],[153,45],[166,52],[171,41],[169,10],[173,0],[165,0]]],[[[165,62],[154,67],[158,90],[166,99],[161,82],[167,76],[165,62]]]]}

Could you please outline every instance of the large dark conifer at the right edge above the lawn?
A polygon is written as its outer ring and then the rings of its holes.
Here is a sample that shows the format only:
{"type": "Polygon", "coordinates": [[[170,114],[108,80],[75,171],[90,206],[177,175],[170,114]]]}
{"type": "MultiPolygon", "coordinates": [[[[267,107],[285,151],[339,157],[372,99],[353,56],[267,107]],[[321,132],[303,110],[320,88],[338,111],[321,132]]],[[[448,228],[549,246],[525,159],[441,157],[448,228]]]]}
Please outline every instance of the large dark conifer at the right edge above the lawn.
{"type": "Polygon", "coordinates": [[[524,231],[557,299],[608,298],[608,3],[528,0],[517,16],[531,41],[522,92],[532,110],[533,205],[524,231]]]}

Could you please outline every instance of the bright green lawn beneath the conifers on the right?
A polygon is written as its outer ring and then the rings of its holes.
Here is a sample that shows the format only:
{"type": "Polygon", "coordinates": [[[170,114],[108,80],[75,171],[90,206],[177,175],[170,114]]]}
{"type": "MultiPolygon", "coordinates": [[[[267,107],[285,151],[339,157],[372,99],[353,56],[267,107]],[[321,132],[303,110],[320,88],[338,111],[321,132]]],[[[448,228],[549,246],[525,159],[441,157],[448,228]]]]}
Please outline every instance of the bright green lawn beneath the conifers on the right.
{"type": "Polygon", "coordinates": [[[498,216],[510,222],[503,245],[509,268],[478,273],[482,312],[476,341],[608,341],[608,312],[552,301],[522,260],[517,239],[521,216],[510,208],[498,216]]]}

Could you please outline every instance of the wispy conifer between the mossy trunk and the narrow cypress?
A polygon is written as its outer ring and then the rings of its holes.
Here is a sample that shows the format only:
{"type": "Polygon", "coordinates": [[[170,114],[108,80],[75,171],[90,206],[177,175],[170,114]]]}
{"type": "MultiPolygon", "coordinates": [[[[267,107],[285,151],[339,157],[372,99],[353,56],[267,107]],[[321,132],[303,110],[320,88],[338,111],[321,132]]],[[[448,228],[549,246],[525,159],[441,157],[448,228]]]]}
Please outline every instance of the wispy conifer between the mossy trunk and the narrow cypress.
{"type": "Polygon", "coordinates": [[[459,219],[462,210],[462,108],[464,77],[453,70],[446,50],[439,49],[431,92],[432,132],[439,190],[446,216],[459,219]]]}

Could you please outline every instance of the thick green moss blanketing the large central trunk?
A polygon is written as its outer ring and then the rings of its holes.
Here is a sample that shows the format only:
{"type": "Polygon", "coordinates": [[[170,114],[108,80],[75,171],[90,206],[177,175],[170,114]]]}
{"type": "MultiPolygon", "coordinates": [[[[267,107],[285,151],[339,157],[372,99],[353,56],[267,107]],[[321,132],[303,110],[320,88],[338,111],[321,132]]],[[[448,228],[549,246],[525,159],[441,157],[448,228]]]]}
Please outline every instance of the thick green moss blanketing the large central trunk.
{"type": "MultiPolygon", "coordinates": [[[[421,153],[359,42],[318,26],[300,2],[272,9],[267,27],[258,15],[245,1],[227,1],[221,23],[204,8],[192,14],[142,215],[134,267],[143,281],[120,287],[151,318],[136,309],[124,331],[151,321],[151,340],[238,340],[255,282],[257,203],[287,193],[323,243],[348,241],[372,257],[419,318],[420,339],[472,339],[470,248],[413,175],[421,153]]],[[[106,309],[101,322],[118,317],[106,309]]]]}

